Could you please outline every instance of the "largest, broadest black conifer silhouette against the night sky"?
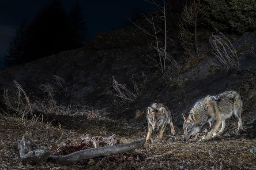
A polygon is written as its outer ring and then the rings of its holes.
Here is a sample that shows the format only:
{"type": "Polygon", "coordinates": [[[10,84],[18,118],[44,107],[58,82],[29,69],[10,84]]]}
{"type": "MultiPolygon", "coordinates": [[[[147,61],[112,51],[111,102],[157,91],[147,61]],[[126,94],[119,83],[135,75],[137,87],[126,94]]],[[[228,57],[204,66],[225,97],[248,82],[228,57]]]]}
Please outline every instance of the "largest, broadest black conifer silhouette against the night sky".
{"type": "Polygon", "coordinates": [[[23,62],[29,62],[72,48],[68,15],[60,1],[54,0],[28,26],[28,42],[23,62]]]}

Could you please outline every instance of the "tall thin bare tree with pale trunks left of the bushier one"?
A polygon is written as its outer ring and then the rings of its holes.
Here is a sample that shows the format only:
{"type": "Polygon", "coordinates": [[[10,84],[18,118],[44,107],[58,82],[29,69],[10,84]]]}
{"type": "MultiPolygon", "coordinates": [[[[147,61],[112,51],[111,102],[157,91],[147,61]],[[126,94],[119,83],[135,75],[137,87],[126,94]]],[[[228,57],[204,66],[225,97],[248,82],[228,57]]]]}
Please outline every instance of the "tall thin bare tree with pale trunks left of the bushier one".
{"type": "Polygon", "coordinates": [[[148,16],[142,14],[143,18],[151,25],[152,30],[148,30],[143,28],[141,25],[134,23],[139,29],[143,31],[143,33],[152,36],[154,38],[154,45],[151,47],[157,52],[157,59],[147,55],[150,57],[152,61],[156,64],[162,74],[165,74],[167,66],[170,66],[171,73],[176,74],[180,72],[179,65],[173,59],[173,57],[166,51],[167,50],[167,33],[169,29],[167,29],[166,18],[167,18],[167,7],[168,3],[166,0],[163,0],[163,5],[156,4],[153,0],[145,0],[148,3],[151,3],[155,6],[155,15],[153,16],[149,13],[148,16]],[[160,21],[160,24],[158,23],[160,21]],[[161,25],[163,25],[161,27],[161,25]]]}

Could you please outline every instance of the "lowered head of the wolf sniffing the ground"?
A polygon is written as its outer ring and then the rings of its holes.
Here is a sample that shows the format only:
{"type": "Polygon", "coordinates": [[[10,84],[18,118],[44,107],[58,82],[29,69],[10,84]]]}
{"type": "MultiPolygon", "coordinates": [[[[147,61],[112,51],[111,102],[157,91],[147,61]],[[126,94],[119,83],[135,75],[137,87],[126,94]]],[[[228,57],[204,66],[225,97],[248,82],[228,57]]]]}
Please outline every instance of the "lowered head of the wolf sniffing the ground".
{"type": "Polygon", "coordinates": [[[196,118],[192,113],[189,113],[188,115],[182,114],[184,118],[183,123],[183,141],[188,141],[190,137],[197,132],[199,132],[201,126],[196,123],[196,118]]]}

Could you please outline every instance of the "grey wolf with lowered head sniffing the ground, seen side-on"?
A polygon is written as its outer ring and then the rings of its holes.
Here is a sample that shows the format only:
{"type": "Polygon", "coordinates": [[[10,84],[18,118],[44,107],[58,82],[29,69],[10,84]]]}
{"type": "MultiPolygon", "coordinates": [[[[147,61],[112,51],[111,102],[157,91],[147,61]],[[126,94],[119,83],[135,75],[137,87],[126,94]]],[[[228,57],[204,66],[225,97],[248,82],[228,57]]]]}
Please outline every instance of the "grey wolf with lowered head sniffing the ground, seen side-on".
{"type": "Polygon", "coordinates": [[[207,122],[210,123],[210,128],[200,141],[207,141],[211,137],[215,137],[221,123],[222,128],[219,133],[223,133],[226,125],[225,120],[232,115],[238,119],[238,131],[242,131],[242,106],[241,96],[236,91],[226,91],[217,96],[206,96],[197,101],[188,115],[183,114],[183,141],[188,141],[207,122]]]}

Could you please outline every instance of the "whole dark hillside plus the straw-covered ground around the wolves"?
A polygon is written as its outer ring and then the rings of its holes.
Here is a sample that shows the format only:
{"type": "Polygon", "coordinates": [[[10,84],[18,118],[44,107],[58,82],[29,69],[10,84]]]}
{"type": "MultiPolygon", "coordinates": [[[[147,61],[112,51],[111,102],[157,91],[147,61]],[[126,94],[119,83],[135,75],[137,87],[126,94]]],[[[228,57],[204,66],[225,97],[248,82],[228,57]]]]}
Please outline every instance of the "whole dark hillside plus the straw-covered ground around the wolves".
{"type": "MultiPolygon", "coordinates": [[[[147,64],[149,59],[142,55],[154,56],[154,51],[144,46],[102,50],[80,48],[1,71],[0,93],[8,92],[10,99],[17,101],[19,94],[13,80],[18,82],[29,100],[37,106],[35,113],[39,120],[29,122],[20,119],[17,112],[8,109],[4,104],[5,98],[1,98],[1,108],[5,112],[0,115],[0,134],[4,139],[0,143],[0,148],[3,147],[4,151],[0,153],[0,160],[3,162],[0,167],[255,169],[255,156],[248,149],[255,145],[256,140],[256,53],[253,50],[256,49],[256,32],[230,37],[233,37],[232,43],[239,57],[239,71],[225,73],[215,70],[213,56],[209,53],[200,63],[192,65],[179,75],[163,76],[157,68],[147,64]],[[61,77],[66,86],[62,89],[55,88],[60,84],[54,75],[61,77]],[[134,102],[122,102],[113,88],[113,77],[118,83],[126,84],[128,90],[134,94],[136,82],[138,98],[134,102]],[[49,87],[50,93],[43,87],[49,87]],[[242,96],[242,121],[245,131],[237,136],[238,123],[235,118],[231,118],[226,121],[225,134],[217,139],[197,142],[203,135],[200,131],[190,141],[179,143],[183,135],[181,113],[188,113],[198,99],[226,90],[237,90],[242,96]],[[47,106],[45,110],[38,109],[41,105],[49,105],[48,101],[54,104],[53,108],[47,109],[47,106]],[[48,163],[26,167],[12,147],[13,142],[20,139],[25,131],[32,132],[39,147],[46,150],[52,144],[62,144],[67,140],[79,141],[83,134],[116,134],[121,142],[143,138],[147,135],[146,109],[151,102],[162,102],[173,113],[177,132],[174,141],[168,140],[168,127],[163,139],[156,144],[147,143],[133,152],[109,156],[108,159],[90,160],[93,163],[84,161],[81,165],[69,167],[48,163]],[[44,113],[43,116],[40,113],[44,113]]],[[[177,44],[177,40],[174,40],[169,50],[173,51],[173,57],[183,67],[184,61],[180,57],[183,51],[177,50],[180,49],[177,44]]],[[[209,44],[205,46],[209,47],[209,44]]],[[[11,104],[17,103],[11,100],[11,104]]]]}

